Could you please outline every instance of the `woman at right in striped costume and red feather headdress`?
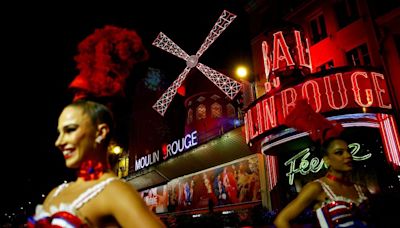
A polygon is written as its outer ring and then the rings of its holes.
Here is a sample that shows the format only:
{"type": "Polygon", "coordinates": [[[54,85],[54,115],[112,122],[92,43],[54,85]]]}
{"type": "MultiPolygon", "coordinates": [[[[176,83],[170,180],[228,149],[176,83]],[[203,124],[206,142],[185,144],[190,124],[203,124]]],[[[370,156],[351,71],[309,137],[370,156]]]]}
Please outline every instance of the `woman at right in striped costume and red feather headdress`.
{"type": "Polygon", "coordinates": [[[288,115],[286,125],[311,131],[312,139],[322,143],[328,171],[325,176],[307,183],[280,211],[274,220],[276,227],[290,227],[290,222],[310,206],[320,227],[368,227],[368,191],[350,180],[353,159],[347,142],[341,137],[342,126],[315,113],[303,100],[288,115]]]}

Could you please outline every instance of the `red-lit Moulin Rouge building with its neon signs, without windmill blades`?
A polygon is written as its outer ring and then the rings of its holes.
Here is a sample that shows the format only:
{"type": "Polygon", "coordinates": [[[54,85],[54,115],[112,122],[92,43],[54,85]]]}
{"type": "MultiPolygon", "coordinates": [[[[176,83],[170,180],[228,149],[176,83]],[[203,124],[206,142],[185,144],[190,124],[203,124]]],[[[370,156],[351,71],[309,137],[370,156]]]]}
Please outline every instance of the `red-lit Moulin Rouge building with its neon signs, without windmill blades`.
{"type": "Polygon", "coordinates": [[[257,7],[268,7],[257,4],[248,8],[250,24],[263,31],[251,44],[256,99],[238,115],[235,101],[212,85],[187,91],[184,136],[136,157],[128,181],[161,215],[203,213],[210,201],[221,211],[279,209],[326,171],[307,133],[283,125],[305,98],[351,135],[354,179],[373,194],[398,194],[399,8],[304,1],[284,14],[291,23],[264,28],[268,10],[257,7]],[[384,37],[377,38],[381,28],[384,37]]]}

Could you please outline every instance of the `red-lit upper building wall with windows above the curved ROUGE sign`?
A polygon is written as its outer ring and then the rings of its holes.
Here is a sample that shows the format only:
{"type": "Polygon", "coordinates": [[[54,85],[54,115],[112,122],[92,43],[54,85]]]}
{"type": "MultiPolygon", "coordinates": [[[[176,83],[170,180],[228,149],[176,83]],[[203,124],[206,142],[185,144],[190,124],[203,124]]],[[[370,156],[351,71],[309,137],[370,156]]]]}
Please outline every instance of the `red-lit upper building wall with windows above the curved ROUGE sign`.
{"type": "MultiPolygon", "coordinates": [[[[256,2],[259,4],[256,4],[258,8],[249,8],[248,10],[252,15],[250,25],[255,33],[255,38],[252,40],[252,52],[254,73],[257,78],[257,97],[265,93],[264,84],[268,82],[266,79],[271,77],[268,76],[268,72],[265,72],[264,66],[268,63],[265,59],[264,43],[269,41],[272,46],[270,41],[274,36],[278,38],[275,39],[277,44],[274,46],[278,52],[275,52],[274,55],[281,53],[280,58],[284,61],[279,61],[279,63],[287,62],[289,68],[296,62],[297,53],[303,52],[298,55],[300,58],[296,64],[300,67],[302,65],[311,66],[312,73],[347,66],[372,66],[379,69],[385,75],[388,90],[391,91],[393,109],[396,113],[399,112],[400,95],[395,92],[400,88],[400,80],[396,79],[396,75],[400,74],[398,3],[380,4],[379,1],[374,0],[324,1],[323,3],[298,1],[301,4],[295,5],[291,1],[283,1],[288,6],[286,10],[283,10],[283,19],[289,21],[291,25],[298,26],[289,31],[293,34],[286,36],[285,42],[288,45],[293,43],[291,47],[293,53],[289,54],[286,52],[281,35],[276,32],[285,32],[285,25],[289,22],[268,20],[268,7],[262,13],[263,11],[260,10],[263,9],[262,4],[256,2]],[[271,24],[273,27],[268,28],[271,27],[271,24]],[[303,46],[301,49],[297,49],[295,46],[296,41],[294,40],[298,39],[296,30],[301,30],[300,34],[308,37],[308,41],[297,42],[303,46]],[[308,57],[307,53],[301,51],[307,47],[312,57],[312,63],[308,63],[307,59],[302,60],[302,58],[308,57]]],[[[278,66],[277,58],[274,58],[273,55],[270,56],[270,61],[272,70],[275,72],[284,70],[278,66]]],[[[304,71],[304,67],[302,69],[304,71]]]]}

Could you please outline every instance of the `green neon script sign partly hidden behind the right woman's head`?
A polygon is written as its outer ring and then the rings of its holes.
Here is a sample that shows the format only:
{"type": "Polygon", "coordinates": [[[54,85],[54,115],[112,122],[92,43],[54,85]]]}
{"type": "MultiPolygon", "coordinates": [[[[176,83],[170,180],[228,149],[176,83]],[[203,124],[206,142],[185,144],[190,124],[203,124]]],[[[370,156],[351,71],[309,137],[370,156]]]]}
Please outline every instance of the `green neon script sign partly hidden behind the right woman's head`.
{"type": "MultiPolygon", "coordinates": [[[[372,156],[371,153],[357,156],[357,153],[360,151],[360,144],[358,143],[349,144],[349,148],[354,161],[367,160],[372,156]]],[[[319,159],[317,157],[309,158],[310,154],[310,148],[306,148],[284,163],[285,166],[289,166],[289,172],[286,173],[286,176],[289,177],[290,185],[293,184],[295,174],[300,173],[301,175],[307,175],[310,172],[318,173],[322,167],[324,167],[324,159],[319,159]]]]}

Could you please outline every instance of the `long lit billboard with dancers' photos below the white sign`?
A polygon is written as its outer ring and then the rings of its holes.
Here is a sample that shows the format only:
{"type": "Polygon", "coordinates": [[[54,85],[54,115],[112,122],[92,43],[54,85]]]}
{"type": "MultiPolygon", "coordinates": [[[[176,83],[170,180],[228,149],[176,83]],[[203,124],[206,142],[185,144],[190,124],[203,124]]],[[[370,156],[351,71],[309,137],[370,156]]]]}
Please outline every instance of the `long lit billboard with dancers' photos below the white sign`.
{"type": "Polygon", "coordinates": [[[141,192],[156,213],[261,201],[257,156],[176,178],[141,192]]]}

